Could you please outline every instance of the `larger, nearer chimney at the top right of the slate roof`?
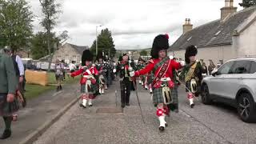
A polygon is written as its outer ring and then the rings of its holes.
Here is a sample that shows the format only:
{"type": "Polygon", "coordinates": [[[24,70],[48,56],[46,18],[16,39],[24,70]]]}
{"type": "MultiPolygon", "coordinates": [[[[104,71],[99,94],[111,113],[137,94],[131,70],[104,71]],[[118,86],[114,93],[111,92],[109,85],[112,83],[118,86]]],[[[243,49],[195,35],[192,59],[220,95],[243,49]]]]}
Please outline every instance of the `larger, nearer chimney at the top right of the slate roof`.
{"type": "Polygon", "coordinates": [[[237,12],[238,8],[234,7],[234,0],[225,0],[225,7],[221,8],[221,20],[224,20],[230,14],[237,12]]]}

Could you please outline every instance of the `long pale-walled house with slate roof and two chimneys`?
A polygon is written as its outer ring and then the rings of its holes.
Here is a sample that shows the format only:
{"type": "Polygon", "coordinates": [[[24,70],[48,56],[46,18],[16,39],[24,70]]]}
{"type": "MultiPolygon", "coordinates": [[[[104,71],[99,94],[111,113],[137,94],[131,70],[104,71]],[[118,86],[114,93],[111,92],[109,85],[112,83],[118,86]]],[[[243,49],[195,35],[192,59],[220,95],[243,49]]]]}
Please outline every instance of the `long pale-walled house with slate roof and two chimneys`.
{"type": "Polygon", "coordinates": [[[233,0],[225,0],[221,18],[193,29],[186,18],[183,34],[172,46],[169,54],[184,59],[186,46],[198,47],[198,60],[223,63],[231,58],[256,56],[256,6],[237,12],[233,0]]]}

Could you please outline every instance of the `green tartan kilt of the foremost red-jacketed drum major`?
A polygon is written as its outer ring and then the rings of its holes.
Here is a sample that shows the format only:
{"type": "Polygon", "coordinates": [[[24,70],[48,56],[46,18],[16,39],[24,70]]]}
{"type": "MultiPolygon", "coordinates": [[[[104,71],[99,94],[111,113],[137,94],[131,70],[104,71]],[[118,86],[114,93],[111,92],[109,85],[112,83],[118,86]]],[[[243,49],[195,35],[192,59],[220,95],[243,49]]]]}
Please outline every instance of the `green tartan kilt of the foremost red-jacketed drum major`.
{"type": "MultiPolygon", "coordinates": [[[[175,85],[170,92],[171,98],[173,99],[173,104],[178,104],[178,86],[175,85]]],[[[154,88],[153,89],[153,103],[154,106],[158,105],[159,103],[163,103],[162,98],[162,88],[154,88]]]]}

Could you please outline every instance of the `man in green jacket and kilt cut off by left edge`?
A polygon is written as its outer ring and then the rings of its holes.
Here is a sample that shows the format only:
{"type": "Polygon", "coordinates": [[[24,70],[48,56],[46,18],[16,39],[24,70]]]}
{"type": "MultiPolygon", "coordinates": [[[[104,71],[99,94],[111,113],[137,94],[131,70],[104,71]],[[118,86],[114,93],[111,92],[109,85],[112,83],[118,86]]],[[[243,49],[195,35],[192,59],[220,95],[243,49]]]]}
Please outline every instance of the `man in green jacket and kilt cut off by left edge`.
{"type": "Polygon", "coordinates": [[[14,102],[14,94],[18,84],[12,59],[6,54],[0,53],[0,115],[4,119],[6,129],[0,139],[9,138],[12,114],[11,102],[14,102]]]}

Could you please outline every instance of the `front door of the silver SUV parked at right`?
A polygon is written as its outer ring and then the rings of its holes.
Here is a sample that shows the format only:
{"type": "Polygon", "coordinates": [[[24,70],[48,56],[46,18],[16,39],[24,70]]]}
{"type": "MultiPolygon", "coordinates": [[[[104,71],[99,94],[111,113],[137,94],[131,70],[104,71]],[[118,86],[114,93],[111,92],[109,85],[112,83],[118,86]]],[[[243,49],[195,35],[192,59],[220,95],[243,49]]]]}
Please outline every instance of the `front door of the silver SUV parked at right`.
{"type": "Polygon", "coordinates": [[[212,94],[213,96],[222,95],[222,91],[225,90],[222,85],[223,78],[226,78],[228,76],[233,65],[234,65],[233,61],[226,62],[218,69],[217,74],[214,75],[214,77],[210,78],[210,82],[209,82],[210,94],[212,94]]]}

